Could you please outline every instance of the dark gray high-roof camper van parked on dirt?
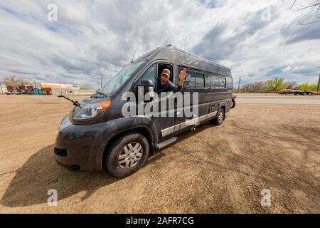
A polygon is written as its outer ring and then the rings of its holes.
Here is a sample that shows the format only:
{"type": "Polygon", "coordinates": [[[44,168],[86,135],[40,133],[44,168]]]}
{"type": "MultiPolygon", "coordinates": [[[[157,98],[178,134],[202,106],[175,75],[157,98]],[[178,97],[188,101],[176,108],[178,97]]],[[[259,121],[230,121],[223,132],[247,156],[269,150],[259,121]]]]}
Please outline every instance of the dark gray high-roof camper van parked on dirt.
{"type": "MultiPolygon", "coordinates": [[[[168,93],[160,100],[164,102],[171,96],[172,93],[168,93]]],[[[137,100],[131,101],[131,105],[152,102],[160,103],[159,100],[137,100]]],[[[177,135],[202,123],[221,125],[233,105],[233,78],[230,68],[169,45],[129,63],[96,95],[74,104],[70,115],[62,120],[55,140],[58,164],[69,170],[85,171],[107,167],[114,177],[127,177],[137,172],[155,149],[175,142],[177,135]],[[165,68],[171,71],[170,80],[175,85],[178,85],[178,73],[187,69],[181,93],[198,93],[198,115],[193,116],[196,122],[181,115],[124,116],[123,107],[128,103],[124,93],[155,91],[165,68]]],[[[178,107],[178,99],[174,99],[174,106],[166,112],[178,114],[181,111],[178,107]]]]}

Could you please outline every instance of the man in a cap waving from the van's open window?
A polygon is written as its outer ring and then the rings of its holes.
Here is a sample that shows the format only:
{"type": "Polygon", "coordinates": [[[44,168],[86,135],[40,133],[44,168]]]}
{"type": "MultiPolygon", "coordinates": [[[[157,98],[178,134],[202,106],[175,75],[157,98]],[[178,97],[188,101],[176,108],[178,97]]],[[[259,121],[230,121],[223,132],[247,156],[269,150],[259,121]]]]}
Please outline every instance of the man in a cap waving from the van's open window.
{"type": "Polygon", "coordinates": [[[169,81],[170,79],[170,70],[169,69],[164,69],[161,73],[161,78],[159,78],[159,83],[158,83],[158,88],[157,88],[157,93],[161,92],[180,92],[183,87],[184,83],[184,78],[186,77],[186,68],[184,68],[182,71],[180,71],[179,74],[179,85],[175,86],[174,83],[169,81]]]}

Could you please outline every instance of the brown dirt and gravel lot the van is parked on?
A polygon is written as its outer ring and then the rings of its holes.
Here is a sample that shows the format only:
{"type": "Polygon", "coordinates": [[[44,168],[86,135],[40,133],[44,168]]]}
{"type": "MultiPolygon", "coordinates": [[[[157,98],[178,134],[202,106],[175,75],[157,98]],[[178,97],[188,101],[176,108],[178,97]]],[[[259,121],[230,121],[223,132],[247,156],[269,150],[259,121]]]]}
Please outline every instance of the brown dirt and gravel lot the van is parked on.
{"type": "MultiPolygon", "coordinates": [[[[241,99],[241,98],[240,98],[241,99]]],[[[320,213],[320,105],[238,103],[131,177],[58,167],[53,143],[72,104],[0,95],[0,212],[320,213]],[[58,190],[58,206],[47,191],[58,190]],[[271,190],[271,207],[260,204],[271,190]]]]}

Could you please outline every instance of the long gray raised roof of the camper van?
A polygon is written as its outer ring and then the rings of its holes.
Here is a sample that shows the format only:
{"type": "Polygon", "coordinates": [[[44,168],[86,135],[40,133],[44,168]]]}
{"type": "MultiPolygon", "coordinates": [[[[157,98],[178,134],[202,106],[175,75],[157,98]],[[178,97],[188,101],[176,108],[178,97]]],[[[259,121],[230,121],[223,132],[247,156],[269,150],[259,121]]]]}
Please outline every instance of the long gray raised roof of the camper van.
{"type": "Polygon", "coordinates": [[[185,66],[200,68],[203,71],[210,71],[213,73],[218,73],[224,76],[231,76],[230,68],[225,66],[221,66],[217,63],[213,63],[205,58],[201,58],[195,56],[191,53],[186,51],[182,51],[170,44],[167,46],[163,46],[160,48],[156,48],[148,53],[145,53],[143,56],[137,58],[134,62],[137,61],[154,61],[154,60],[168,60],[168,61],[175,61],[181,63],[185,66]]]}

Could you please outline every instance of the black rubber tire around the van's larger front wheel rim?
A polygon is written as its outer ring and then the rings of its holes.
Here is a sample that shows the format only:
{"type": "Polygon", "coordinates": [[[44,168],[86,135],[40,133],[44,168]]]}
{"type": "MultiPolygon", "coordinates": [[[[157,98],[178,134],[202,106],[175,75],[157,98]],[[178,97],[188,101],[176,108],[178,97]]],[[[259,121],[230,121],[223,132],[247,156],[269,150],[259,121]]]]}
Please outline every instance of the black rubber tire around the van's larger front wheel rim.
{"type": "MultiPolygon", "coordinates": [[[[110,145],[105,158],[105,165],[110,174],[117,178],[128,177],[134,172],[140,170],[144,165],[149,155],[149,142],[146,140],[144,135],[139,133],[127,133],[117,138],[112,145],[110,145]],[[124,147],[127,145],[141,145],[142,146],[142,158],[137,162],[134,167],[125,168],[119,165],[119,155],[124,153],[124,147]]],[[[132,163],[132,162],[129,162],[132,163]]],[[[124,164],[123,164],[124,165],[124,164]]]]}

